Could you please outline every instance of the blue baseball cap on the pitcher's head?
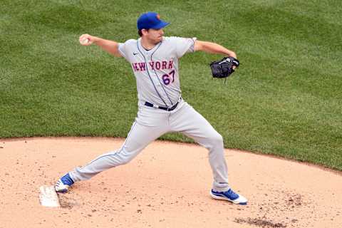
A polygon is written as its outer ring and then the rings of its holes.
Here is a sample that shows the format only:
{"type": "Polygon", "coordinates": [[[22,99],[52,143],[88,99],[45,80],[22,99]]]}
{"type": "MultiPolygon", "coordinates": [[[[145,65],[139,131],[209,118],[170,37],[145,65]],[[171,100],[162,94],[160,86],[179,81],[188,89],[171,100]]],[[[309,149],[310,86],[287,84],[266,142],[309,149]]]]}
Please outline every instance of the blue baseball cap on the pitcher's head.
{"type": "Polygon", "coordinates": [[[168,22],[160,20],[159,14],[155,12],[147,12],[145,14],[141,14],[137,21],[138,30],[142,28],[149,29],[160,29],[167,26],[168,22]]]}

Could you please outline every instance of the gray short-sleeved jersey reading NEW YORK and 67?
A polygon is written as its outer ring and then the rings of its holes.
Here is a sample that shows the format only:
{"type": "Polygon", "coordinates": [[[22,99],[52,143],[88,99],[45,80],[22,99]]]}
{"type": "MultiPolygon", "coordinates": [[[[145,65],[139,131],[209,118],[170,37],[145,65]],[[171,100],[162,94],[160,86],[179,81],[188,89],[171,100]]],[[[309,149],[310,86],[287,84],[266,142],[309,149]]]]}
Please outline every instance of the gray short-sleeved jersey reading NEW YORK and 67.
{"type": "Polygon", "coordinates": [[[118,51],[130,63],[137,81],[139,104],[146,101],[170,107],[180,99],[178,59],[194,51],[196,38],[163,37],[151,50],[141,45],[141,38],[119,43],[118,51]]]}

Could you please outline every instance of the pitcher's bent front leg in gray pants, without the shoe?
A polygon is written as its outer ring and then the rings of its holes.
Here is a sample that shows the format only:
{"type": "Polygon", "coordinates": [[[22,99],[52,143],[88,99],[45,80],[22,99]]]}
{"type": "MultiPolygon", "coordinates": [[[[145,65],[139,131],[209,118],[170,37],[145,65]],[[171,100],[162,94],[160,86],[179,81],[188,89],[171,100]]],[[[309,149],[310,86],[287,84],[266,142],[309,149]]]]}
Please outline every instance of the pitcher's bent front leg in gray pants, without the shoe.
{"type": "Polygon", "coordinates": [[[187,103],[172,114],[171,120],[172,130],[187,135],[209,150],[209,163],[214,176],[213,189],[219,192],[229,190],[222,136],[187,103]]]}

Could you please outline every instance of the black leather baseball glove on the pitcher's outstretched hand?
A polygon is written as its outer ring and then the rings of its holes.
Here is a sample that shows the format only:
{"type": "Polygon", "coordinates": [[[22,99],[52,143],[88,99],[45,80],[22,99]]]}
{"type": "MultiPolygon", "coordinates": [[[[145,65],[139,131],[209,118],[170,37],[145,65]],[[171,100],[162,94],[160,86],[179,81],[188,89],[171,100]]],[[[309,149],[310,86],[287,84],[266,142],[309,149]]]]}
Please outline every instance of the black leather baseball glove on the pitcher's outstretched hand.
{"type": "Polygon", "coordinates": [[[227,78],[234,73],[233,66],[238,67],[239,65],[240,63],[236,58],[228,56],[220,61],[210,63],[210,68],[212,68],[214,78],[227,78]]]}

